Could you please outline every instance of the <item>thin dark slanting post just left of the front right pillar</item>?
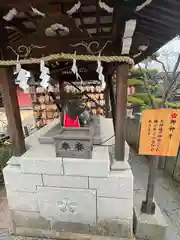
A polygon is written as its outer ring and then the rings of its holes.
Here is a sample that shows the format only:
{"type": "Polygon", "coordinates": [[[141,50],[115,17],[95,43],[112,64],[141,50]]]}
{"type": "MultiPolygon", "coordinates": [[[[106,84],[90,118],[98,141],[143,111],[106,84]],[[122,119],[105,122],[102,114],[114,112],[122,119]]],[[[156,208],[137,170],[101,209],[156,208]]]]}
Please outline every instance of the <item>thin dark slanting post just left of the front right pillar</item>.
{"type": "Polygon", "coordinates": [[[109,89],[109,96],[110,96],[110,102],[111,102],[111,114],[113,119],[113,127],[114,127],[114,133],[115,133],[115,126],[116,126],[116,105],[115,105],[115,94],[112,84],[112,77],[111,75],[108,75],[107,78],[107,88],[109,89]]]}

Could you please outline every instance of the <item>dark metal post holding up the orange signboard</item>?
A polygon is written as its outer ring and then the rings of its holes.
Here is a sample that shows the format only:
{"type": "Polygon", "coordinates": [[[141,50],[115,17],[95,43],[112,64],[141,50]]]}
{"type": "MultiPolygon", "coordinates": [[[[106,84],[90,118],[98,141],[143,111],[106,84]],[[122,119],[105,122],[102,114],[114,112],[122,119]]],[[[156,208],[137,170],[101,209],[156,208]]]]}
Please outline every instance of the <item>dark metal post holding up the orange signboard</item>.
{"type": "Polygon", "coordinates": [[[142,213],[146,213],[146,214],[155,213],[155,203],[153,202],[153,200],[154,200],[154,187],[155,187],[155,181],[156,181],[156,171],[157,171],[158,160],[159,160],[159,157],[157,156],[154,156],[151,159],[147,191],[146,191],[146,200],[143,201],[141,205],[142,213]]]}

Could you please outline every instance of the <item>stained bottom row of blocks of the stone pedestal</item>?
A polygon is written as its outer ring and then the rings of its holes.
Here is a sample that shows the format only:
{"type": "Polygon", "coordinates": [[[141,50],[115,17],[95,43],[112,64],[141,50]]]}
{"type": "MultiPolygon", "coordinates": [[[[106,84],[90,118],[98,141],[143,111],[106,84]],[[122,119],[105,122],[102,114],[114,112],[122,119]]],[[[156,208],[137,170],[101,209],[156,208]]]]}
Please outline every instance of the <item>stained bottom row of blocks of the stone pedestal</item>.
{"type": "Polygon", "coordinates": [[[98,221],[96,225],[49,221],[40,216],[40,213],[10,210],[13,225],[10,232],[14,235],[38,237],[53,237],[55,233],[91,234],[92,236],[125,237],[131,239],[132,220],[119,219],[114,221],[98,221]]]}

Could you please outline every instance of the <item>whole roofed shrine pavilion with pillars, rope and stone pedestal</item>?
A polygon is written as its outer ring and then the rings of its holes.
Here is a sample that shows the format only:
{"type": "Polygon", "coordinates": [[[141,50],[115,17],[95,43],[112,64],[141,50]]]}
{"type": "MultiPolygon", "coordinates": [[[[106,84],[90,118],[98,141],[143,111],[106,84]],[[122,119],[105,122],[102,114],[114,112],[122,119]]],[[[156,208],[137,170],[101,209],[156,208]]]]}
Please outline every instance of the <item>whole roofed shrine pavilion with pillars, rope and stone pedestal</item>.
{"type": "MultiPolygon", "coordinates": [[[[133,175],[125,142],[128,72],[179,33],[179,8],[175,0],[0,2],[0,76],[13,147],[4,179],[13,234],[133,237],[133,175]],[[90,114],[75,128],[54,120],[24,139],[15,68],[24,89],[27,71],[44,88],[59,82],[65,114],[75,103],[63,97],[63,84],[99,80],[113,121],[90,114]],[[107,142],[114,131],[115,141],[107,142]]],[[[78,104],[77,116],[85,111],[78,104]]]]}

